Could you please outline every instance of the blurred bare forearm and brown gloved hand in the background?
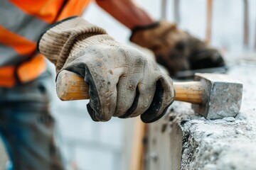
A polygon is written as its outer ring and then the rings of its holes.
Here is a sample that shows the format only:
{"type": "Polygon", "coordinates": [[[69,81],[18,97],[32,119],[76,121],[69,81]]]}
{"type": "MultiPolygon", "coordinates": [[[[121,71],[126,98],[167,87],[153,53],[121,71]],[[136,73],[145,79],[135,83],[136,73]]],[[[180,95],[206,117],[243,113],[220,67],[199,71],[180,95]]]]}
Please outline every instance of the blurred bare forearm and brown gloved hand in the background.
{"type": "Polygon", "coordinates": [[[130,40],[154,52],[169,74],[225,65],[218,50],[179,30],[174,23],[156,22],[134,0],[97,0],[97,4],[132,30],[130,40]]]}

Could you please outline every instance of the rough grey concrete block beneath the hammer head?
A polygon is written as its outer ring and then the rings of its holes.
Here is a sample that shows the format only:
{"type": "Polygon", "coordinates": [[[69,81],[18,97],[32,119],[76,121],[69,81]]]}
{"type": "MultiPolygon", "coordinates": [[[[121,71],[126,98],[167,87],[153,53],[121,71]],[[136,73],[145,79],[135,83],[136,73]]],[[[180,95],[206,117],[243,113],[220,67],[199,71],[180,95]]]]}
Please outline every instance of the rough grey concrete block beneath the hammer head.
{"type": "Polygon", "coordinates": [[[255,72],[255,59],[230,67],[230,77],[244,86],[235,118],[206,120],[175,101],[165,118],[149,125],[147,169],[256,169],[255,72]]]}

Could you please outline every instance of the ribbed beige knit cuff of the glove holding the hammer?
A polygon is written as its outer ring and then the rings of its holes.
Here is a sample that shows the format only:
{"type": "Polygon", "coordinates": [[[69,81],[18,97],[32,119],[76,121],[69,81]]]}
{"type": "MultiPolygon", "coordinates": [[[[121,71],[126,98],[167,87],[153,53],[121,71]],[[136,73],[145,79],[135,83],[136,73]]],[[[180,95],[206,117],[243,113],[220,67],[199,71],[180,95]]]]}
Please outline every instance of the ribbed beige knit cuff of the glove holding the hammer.
{"type": "Polygon", "coordinates": [[[37,44],[38,52],[53,62],[56,70],[60,70],[75,42],[102,34],[107,32],[80,17],[66,18],[42,33],[37,44]]]}

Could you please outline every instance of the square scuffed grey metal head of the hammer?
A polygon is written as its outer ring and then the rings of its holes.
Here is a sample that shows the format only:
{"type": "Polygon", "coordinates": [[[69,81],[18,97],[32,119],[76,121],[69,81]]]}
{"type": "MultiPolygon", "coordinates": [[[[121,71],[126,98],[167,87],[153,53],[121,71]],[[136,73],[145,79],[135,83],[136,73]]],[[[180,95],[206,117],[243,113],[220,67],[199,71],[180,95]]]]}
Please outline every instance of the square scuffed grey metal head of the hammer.
{"type": "Polygon", "coordinates": [[[206,119],[235,117],[242,103],[242,83],[225,74],[195,74],[195,81],[205,86],[203,103],[192,105],[206,119]]]}

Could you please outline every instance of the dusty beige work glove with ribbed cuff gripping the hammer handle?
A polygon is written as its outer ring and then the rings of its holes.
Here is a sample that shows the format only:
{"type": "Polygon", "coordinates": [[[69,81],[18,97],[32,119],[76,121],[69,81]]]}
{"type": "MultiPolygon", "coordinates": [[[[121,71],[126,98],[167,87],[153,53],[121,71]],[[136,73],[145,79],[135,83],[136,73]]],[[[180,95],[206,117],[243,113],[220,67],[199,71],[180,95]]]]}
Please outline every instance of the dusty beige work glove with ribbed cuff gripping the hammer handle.
{"type": "Polygon", "coordinates": [[[55,64],[57,73],[65,69],[85,77],[92,120],[141,115],[144,123],[151,123],[174,101],[172,80],[154,61],[82,18],[68,18],[47,30],[38,50],[55,64]]]}

